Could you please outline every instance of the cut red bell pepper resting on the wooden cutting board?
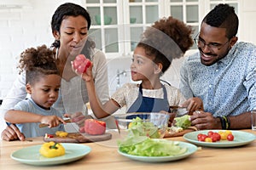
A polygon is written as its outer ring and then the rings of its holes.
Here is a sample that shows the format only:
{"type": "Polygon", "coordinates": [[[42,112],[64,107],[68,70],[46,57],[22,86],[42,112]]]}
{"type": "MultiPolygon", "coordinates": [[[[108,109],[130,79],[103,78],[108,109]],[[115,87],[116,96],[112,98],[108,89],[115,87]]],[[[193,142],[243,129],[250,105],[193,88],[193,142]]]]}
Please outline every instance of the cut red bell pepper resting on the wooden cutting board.
{"type": "Polygon", "coordinates": [[[97,121],[95,119],[86,119],[84,121],[84,132],[97,135],[106,131],[106,122],[97,121]]]}

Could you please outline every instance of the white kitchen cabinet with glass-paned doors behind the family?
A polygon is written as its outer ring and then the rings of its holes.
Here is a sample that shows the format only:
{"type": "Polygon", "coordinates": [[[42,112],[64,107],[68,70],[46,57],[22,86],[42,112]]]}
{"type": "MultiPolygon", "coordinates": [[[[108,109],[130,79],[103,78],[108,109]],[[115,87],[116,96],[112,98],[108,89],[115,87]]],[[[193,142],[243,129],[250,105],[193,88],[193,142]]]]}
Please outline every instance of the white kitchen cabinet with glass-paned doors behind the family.
{"type": "MultiPolygon", "coordinates": [[[[90,37],[108,58],[132,53],[146,26],[172,15],[199,31],[202,18],[218,3],[238,11],[239,0],[84,0],[92,23],[90,37]]],[[[195,49],[195,45],[191,49],[195,49]]]]}

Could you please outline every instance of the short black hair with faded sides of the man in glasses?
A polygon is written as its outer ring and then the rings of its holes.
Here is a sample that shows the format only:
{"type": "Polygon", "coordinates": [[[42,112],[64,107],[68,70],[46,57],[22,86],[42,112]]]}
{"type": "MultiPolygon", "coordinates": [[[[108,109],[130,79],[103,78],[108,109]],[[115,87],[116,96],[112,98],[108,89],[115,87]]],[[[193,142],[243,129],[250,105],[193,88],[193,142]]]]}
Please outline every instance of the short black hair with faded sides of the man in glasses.
{"type": "Polygon", "coordinates": [[[226,37],[235,37],[239,20],[235,13],[235,8],[229,4],[220,3],[215,6],[203,19],[209,26],[226,28],[226,37]]]}

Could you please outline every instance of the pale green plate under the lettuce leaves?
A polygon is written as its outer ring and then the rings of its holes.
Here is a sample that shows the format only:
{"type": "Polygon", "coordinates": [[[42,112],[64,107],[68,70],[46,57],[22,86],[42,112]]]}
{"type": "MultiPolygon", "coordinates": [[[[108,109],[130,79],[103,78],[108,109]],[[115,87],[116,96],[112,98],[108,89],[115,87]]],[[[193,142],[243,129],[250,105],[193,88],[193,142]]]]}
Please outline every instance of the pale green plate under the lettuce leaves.
{"type": "Polygon", "coordinates": [[[188,150],[179,156],[133,156],[130,154],[126,154],[125,152],[122,152],[120,150],[118,150],[118,152],[120,155],[126,156],[132,160],[148,161],[148,162],[164,162],[164,161],[176,161],[176,160],[183,159],[185,157],[188,157],[188,156],[194,154],[195,151],[197,150],[197,147],[195,146],[195,144],[189,144],[189,143],[181,142],[181,141],[170,141],[170,142],[178,142],[178,144],[181,147],[186,147],[186,148],[188,148],[188,150]]]}

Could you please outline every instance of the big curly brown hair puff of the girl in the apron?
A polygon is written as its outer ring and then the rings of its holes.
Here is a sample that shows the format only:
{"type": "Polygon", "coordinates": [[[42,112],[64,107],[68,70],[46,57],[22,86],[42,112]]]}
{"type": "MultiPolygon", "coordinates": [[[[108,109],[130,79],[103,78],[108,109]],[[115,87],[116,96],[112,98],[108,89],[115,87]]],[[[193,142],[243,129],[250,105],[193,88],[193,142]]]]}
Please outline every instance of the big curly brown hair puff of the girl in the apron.
{"type": "Polygon", "coordinates": [[[144,48],[146,54],[153,57],[154,63],[161,63],[164,73],[172,59],[182,57],[193,45],[192,33],[191,26],[170,16],[157,20],[153,26],[148,27],[137,47],[144,48]]]}

